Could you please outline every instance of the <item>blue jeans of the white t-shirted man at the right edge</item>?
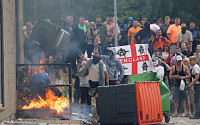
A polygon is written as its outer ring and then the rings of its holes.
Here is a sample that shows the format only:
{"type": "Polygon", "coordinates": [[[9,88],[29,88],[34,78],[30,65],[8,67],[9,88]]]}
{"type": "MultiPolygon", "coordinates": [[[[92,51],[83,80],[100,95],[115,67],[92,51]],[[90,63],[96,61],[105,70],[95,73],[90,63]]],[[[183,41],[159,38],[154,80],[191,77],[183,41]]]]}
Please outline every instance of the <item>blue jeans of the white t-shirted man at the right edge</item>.
{"type": "Polygon", "coordinates": [[[200,84],[194,84],[195,116],[200,117],[200,84]]]}

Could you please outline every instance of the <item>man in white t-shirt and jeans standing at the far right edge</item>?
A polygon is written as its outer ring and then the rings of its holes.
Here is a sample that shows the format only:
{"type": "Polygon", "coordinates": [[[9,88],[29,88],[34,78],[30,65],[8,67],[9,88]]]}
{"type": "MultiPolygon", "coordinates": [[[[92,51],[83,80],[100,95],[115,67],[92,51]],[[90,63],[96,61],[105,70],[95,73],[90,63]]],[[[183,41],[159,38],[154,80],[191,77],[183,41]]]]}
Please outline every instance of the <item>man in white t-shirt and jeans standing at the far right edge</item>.
{"type": "Polygon", "coordinates": [[[194,85],[194,100],[196,105],[196,112],[193,117],[190,119],[200,119],[200,82],[199,82],[199,73],[200,68],[197,65],[197,58],[195,56],[191,56],[190,65],[193,66],[191,75],[192,75],[192,83],[188,85],[188,88],[191,88],[194,85]]]}

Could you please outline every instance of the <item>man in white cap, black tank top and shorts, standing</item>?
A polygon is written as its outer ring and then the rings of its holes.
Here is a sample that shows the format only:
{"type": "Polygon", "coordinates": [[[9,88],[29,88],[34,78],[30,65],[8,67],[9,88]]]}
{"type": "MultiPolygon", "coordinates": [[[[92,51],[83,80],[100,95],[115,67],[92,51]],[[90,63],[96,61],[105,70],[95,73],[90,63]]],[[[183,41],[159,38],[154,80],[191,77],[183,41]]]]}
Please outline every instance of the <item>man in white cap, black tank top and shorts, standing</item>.
{"type": "Polygon", "coordinates": [[[182,64],[182,57],[178,55],[176,57],[176,64],[171,67],[170,73],[169,73],[169,78],[170,79],[175,79],[173,83],[173,98],[174,98],[174,114],[172,117],[177,117],[177,109],[178,109],[178,100],[180,97],[185,101],[186,104],[186,109],[187,109],[187,114],[184,108],[184,116],[191,117],[190,113],[190,107],[189,107],[189,101],[188,101],[188,91],[185,86],[184,90],[180,90],[180,84],[181,80],[183,80],[186,83],[186,79],[189,79],[191,77],[190,71],[187,66],[182,64]]]}

